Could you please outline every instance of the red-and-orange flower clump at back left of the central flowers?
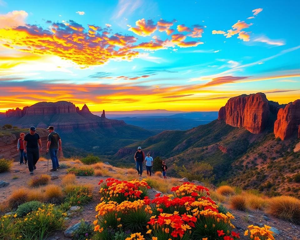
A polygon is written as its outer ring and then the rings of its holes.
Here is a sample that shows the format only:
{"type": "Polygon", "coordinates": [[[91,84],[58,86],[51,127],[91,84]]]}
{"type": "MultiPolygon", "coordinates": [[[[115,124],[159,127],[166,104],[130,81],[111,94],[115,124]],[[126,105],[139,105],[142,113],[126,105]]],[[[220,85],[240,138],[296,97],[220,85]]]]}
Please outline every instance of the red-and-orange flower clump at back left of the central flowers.
{"type": "Polygon", "coordinates": [[[147,189],[150,188],[144,181],[132,180],[132,181],[120,181],[115,178],[106,179],[106,183],[101,180],[100,196],[101,201],[116,201],[123,202],[135,201],[137,199],[143,199],[146,196],[147,189]]]}

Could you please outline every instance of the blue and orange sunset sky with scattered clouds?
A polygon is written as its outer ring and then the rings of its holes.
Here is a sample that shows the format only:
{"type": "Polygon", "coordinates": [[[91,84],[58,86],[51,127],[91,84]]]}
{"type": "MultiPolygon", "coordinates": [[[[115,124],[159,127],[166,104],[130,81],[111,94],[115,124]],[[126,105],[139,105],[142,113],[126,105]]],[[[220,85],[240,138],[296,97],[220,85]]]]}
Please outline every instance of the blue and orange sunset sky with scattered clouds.
{"type": "Polygon", "coordinates": [[[0,112],[217,111],[300,96],[299,1],[0,0],[0,112]]]}

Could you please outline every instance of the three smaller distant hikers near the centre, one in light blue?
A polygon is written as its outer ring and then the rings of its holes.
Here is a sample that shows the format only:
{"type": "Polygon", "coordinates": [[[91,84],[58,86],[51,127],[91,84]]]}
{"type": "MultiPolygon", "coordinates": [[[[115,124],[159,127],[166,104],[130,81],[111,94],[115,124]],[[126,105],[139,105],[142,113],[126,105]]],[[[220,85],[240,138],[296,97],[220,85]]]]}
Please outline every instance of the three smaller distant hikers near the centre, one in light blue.
{"type": "MultiPolygon", "coordinates": [[[[138,171],[138,175],[142,176],[143,173],[143,164],[146,165],[147,175],[151,177],[151,170],[153,166],[153,158],[150,157],[150,153],[147,153],[147,157],[145,157],[145,153],[142,151],[142,147],[138,147],[138,151],[134,154],[134,161],[138,171]]],[[[167,178],[167,165],[164,161],[162,161],[162,172],[163,178],[167,178]]]]}

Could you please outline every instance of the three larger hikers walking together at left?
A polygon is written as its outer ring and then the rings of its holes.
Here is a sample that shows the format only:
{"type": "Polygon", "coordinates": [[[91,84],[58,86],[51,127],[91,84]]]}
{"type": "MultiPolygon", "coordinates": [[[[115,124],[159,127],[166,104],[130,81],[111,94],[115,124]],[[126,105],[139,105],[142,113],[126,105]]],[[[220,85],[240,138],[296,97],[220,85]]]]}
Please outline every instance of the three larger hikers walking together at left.
{"type": "MultiPolygon", "coordinates": [[[[20,133],[20,138],[17,143],[17,150],[20,156],[19,165],[28,164],[29,173],[33,174],[33,170],[36,170],[36,164],[39,156],[39,151],[42,149],[42,141],[40,135],[36,133],[36,128],[31,127],[29,133],[20,133]],[[23,161],[25,160],[25,162],[23,161]]],[[[50,171],[56,171],[59,168],[57,153],[62,150],[62,140],[58,133],[54,131],[53,126],[49,126],[46,130],[49,131],[47,138],[48,156],[50,155],[52,161],[52,168],[50,171]]]]}

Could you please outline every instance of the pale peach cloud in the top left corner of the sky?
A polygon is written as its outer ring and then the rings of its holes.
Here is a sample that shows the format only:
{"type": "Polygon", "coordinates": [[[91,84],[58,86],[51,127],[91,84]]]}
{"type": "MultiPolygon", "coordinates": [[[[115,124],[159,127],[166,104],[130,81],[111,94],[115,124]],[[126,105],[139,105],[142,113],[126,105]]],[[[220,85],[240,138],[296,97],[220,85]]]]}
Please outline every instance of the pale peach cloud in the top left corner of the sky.
{"type": "Polygon", "coordinates": [[[25,19],[28,13],[21,11],[12,11],[7,14],[0,14],[0,28],[11,28],[17,26],[24,26],[25,19]]]}

